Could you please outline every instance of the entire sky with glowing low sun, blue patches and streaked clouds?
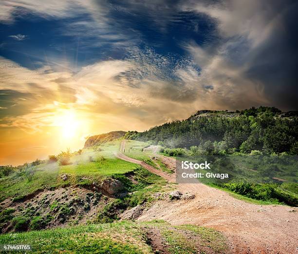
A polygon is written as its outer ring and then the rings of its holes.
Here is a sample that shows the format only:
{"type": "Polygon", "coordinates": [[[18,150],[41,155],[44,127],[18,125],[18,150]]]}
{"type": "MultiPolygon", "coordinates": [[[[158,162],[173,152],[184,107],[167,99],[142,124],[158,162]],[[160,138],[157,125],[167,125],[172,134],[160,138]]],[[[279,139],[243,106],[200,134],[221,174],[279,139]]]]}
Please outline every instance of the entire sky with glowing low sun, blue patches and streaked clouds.
{"type": "Polygon", "coordinates": [[[0,164],[200,109],[298,110],[295,0],[2,0],[0,164]]]}

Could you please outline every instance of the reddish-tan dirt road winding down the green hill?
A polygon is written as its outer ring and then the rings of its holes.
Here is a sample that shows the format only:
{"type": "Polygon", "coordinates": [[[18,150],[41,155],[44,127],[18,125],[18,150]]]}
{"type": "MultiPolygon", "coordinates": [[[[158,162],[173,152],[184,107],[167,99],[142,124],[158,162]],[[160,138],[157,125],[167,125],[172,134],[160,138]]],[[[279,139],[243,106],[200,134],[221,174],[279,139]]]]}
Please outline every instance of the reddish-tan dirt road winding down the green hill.
{"type": "MultiPolygon", "coordinates": [[[[123,156],[119,153],[118,158],[128,160],[127,156],[123,156]]],[[[168,181],[174,180],[174,176],[168,179],[161,174],[164,172],[129,159],[153,173],[158,171],[155,174],[168,181]]],[[[162,157],[162,160],[174,166],[173,158],[162,157]]],[[[180,183],[177,184],[177,190],[193,193],[195,199],[156,201],[138,220],[164,219],[174,225],[195,224],[217,229],[227,237],[232,253],[298,253],[298,208],[248,203],[202,183],[180,183]]]]}

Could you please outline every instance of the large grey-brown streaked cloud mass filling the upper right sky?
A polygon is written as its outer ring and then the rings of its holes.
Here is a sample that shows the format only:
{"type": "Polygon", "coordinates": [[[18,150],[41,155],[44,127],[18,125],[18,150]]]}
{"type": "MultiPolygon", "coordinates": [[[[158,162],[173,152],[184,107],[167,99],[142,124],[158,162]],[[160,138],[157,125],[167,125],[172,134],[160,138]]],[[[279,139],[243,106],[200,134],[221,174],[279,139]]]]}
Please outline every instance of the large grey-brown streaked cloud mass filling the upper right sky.
{"type": "Polygon", "coordinates": [[[297,1],[227,0],[184,8],[218,22],[223,36],[219,45],[186,48],[210,85],[222,91],[233,87],[229,100],[223,92],[226,103],[240,108],[263,104],[298,109],[297,1]]]}

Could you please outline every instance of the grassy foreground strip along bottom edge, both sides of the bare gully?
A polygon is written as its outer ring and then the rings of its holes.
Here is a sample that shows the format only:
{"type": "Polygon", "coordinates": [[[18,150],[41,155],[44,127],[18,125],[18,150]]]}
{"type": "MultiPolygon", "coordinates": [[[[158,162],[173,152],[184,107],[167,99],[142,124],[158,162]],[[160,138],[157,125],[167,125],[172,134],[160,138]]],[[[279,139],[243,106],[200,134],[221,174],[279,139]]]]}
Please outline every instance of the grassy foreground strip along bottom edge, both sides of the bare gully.
{"type": "Polygon", "coordinates": [[[198,248],[208,250],[208,253],[226,250],[225,238],[215,230],[192,225],[172,227],[163,221],[122,221],[5,234],[0,235],[0,244],[30,244],[32,253],[152,253],[146,235],[146,229],[152,227],[160,230],[171,253],[198,253],[198,248]],[[189,234],[194,236],[193,239],[186,238],[189,234]]]}

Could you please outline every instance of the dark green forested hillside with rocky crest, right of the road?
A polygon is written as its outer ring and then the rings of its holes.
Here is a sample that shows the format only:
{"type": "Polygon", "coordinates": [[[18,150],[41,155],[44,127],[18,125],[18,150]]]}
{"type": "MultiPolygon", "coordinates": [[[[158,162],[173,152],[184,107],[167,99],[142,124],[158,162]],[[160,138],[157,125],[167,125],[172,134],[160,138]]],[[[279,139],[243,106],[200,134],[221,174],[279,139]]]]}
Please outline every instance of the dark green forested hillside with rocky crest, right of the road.
{"type": "Polygon", "coordinates": [[[186,120],[144,132],[129,131],[125,138],[171,148],[197,146],[212,154],[298,154],[298,117],[297,112],[281,112],[274,107],[235,112],[201,110],[186,120]]]}

